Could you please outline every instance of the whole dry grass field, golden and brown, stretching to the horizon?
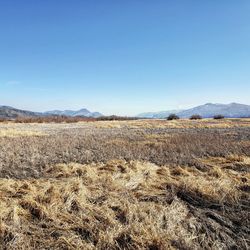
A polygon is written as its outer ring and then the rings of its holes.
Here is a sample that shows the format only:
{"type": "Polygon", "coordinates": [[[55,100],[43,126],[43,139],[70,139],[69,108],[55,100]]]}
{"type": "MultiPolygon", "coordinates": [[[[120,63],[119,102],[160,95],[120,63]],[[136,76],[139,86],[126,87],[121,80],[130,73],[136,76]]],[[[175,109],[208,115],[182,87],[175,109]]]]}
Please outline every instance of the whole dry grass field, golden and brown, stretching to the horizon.
{"type": "Polygon", "coordinates": [[[250,120],[0,123],[0,249],[249,249],[250,120]]]}

